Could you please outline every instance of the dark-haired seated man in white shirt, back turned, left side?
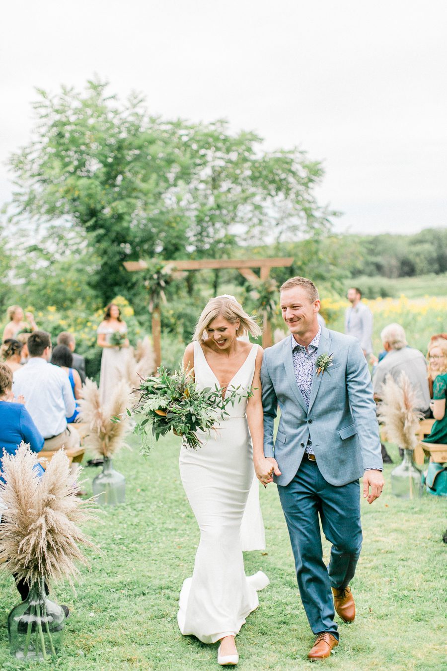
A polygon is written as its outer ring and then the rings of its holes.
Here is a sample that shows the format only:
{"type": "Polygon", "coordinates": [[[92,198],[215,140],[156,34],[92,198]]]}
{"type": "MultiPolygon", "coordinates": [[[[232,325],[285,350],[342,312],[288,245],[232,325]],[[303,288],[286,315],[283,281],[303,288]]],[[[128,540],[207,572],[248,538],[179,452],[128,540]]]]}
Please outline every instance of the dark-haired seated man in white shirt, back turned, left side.
{"type": "Polygon", "coordinates": [[[28,351],[29,361],[13,376],[15,397],[23,395],[25,398],[25,407],[44,436],[43,450],[78,447],[79,434],[69,428],[66,421],[66,417],[74,413],[76,403],[68,375],[59,366],[49,363],[50,334],[46,331],[31,333],[28,351]]]}

